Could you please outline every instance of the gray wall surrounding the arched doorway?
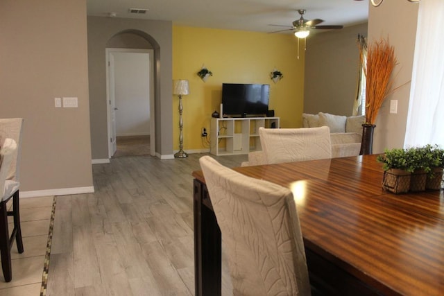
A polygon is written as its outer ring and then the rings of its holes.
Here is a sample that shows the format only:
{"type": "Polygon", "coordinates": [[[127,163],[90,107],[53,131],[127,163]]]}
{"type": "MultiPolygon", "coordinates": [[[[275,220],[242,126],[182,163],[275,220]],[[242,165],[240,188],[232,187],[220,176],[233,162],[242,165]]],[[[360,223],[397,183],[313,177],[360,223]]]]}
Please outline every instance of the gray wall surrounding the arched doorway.
{"type": "Polygon", "coordinates": [[[108,40],[119,33],[139,35],[153,46],[156,67],[155,151],[161,158],[172,156],[171,21],[88,17],[87,28],[92,158],[108,159],[105,48],[108,46],[108,40]]]}

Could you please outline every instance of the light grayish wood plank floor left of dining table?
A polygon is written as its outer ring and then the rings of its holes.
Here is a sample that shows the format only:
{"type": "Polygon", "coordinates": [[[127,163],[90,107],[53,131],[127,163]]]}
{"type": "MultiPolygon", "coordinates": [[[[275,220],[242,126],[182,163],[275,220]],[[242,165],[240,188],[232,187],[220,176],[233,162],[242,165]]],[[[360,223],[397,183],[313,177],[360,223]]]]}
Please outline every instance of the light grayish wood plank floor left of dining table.
{"type": "MultiPolygon", "coordinates": [[[[93,166],[95,193],[58,197],[46,295],[194,295],[191,171],[201,156],[111,159],[93,166]]],[[[234,167],[247,156],[215,158],[234,167]]]]}

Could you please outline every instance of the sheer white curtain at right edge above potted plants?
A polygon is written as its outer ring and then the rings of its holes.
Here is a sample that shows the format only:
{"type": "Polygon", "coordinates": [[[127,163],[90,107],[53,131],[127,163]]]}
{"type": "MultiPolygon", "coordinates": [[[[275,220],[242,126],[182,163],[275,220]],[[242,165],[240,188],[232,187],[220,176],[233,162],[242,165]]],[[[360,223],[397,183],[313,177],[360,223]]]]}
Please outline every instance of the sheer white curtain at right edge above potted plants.
{"type": "Polygon", "coordinates": [[[444,146],[444,1],[420,2],[404,147],[444,146]]]}

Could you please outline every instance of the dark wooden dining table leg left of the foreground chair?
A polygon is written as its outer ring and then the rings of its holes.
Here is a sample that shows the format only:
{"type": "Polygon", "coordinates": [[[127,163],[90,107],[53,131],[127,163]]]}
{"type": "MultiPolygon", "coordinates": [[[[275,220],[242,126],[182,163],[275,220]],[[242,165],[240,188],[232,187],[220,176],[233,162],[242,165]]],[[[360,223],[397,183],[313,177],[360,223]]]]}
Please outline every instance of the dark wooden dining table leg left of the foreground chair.
{"type": "Polygon", "coordinates": [[[205,184],[194,180],[194,280],[196,296],[220,296],[221,230],[205,184]]]}

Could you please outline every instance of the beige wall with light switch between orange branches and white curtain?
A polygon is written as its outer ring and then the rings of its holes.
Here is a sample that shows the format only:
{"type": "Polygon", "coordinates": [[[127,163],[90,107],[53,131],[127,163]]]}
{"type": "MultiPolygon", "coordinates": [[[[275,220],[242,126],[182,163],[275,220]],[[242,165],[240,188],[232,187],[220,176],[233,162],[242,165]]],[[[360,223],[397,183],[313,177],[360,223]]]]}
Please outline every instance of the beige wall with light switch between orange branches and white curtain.
{"type": "Polygon", "coordinates": [[[373,153],[382,153],[384,148],[404,146],[417,23],[418,3],[405,0],[384,1],[384,5],[377,8],[370,6],[368,10],[368,42],[388,37],[398,60],[393,70],[393,86],[403,85],[386,98],[379,110],[373,153]],[[390,100],[398,100],[397,114],[389,113],[390,100]]]}

